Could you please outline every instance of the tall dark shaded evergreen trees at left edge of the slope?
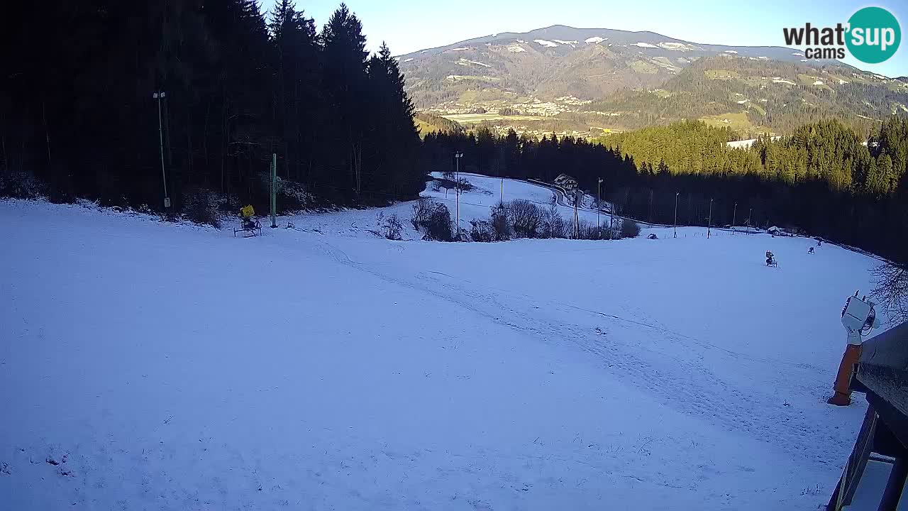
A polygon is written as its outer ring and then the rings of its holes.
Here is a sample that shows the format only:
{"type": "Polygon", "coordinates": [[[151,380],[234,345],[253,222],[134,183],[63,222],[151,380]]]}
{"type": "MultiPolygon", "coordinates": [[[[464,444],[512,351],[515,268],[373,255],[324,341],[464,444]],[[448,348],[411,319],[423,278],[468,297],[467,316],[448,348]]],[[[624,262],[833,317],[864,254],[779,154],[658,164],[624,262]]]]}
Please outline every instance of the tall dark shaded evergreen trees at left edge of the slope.
{"type": "Polygon", "coordinates": [[[198,190],[263,208],[277,153],[281,179],[331,202],[415,196],[403,76],[365,44],[346,5],[321,32],[291,0],[267,15],[253,0],[6,5],[0,176],[161,209],[163,159],[174,211],[198,190]]]}

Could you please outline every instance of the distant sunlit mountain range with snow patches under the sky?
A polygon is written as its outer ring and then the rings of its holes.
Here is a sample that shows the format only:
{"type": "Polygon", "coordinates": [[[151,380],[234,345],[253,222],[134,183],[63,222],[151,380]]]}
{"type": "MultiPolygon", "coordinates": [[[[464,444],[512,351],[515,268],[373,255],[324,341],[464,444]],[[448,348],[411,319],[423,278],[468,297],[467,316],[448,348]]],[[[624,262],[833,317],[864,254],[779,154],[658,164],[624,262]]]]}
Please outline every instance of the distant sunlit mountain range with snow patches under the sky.
{"type": "Polygon", "coordinates": [[[900,79],[806,59],[785,46],[707,45],[652,31],[550,25],[427,48],[398,62],[420,112],[468,129],[597,136],[695,118],[753,135],[844,115],[866,131],[908,113],[900,79]],[[685,73],[697,62],[700,75],[685,73]],[[678,101],[684,108],[673,110],[678,101]],[[779,115],[780,108],[795,114],[779,115]]]}

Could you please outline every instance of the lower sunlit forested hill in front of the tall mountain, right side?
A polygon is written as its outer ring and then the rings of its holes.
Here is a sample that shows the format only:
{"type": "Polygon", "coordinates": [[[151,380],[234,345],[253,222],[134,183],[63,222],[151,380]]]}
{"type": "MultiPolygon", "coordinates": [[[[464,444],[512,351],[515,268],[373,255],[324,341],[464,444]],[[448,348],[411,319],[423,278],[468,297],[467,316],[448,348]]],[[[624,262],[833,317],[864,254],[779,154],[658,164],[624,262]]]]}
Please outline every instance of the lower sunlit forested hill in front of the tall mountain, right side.
{"type": "Polygon", "coordinates": [[[697,60],[656,89],[623,89],[586,109],[613,113],[602,124],[626,128],[704,119],[750,138],[837,118],[866,135],[888,116],[908,113],[908,84],[846,65],[716,56],[697,60]]]}

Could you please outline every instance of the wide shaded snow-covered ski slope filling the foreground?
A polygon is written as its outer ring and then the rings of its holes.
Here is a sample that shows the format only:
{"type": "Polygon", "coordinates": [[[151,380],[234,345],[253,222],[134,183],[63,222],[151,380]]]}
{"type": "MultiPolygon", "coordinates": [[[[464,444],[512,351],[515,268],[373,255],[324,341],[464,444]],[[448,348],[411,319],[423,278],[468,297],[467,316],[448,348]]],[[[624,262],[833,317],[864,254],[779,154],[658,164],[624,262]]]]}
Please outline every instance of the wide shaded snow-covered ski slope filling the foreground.
{"type": "MultiPolygon", "coordinates": [[[[464,195],[461,216],[493,195],[464,195]]],[[[377,213],[241,239],[0,202],[0,509],[828,498],[865,406],[824,404],[839,314],[873,258],[694,228],[392,242],[368,232],[377,213]]]]}

